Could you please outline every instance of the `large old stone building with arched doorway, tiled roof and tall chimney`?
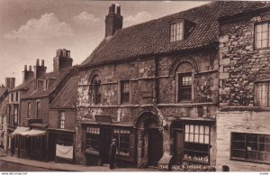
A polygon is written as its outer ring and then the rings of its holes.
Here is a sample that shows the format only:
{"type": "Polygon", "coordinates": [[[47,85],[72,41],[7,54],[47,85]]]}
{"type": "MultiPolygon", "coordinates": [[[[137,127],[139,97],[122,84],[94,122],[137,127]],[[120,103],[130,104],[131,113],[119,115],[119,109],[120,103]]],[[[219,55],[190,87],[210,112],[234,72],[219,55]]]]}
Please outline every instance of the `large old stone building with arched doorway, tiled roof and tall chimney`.
{"type": "Polygon", "coordinates": [[[105,38],[80,65],[76,162],[215,165],[218,17],[223,2],[122,28],[110,6],[105,38]]]}

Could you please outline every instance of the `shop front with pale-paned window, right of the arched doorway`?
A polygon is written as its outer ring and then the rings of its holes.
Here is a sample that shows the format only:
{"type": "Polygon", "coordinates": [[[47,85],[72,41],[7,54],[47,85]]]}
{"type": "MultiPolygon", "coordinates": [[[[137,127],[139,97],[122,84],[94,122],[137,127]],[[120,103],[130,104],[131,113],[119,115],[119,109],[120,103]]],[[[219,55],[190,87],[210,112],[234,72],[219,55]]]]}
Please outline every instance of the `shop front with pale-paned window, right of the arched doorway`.
{"type": "Polygon", "coordinates": [[[177,120],[172,123],[175,165],[211,165],[211,127],[214,121],[177,120]]]}

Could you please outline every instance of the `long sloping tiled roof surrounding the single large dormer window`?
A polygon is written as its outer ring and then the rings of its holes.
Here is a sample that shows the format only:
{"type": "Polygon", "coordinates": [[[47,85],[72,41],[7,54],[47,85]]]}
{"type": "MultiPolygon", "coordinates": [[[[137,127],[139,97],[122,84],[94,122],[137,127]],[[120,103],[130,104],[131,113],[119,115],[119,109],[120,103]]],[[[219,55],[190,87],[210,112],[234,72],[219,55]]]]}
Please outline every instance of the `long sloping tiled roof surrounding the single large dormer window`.
{"type": "Polygon", "coordinates": [[[157,20],[123,28],[107,37],[81,64],[92,66],[118,60],[167,53],[189,51],[209,46],[218,41],[218,18],[236,12],[246,12],[262,7],[261,2],[212,2],[157,20]],[[193,32],[184,41],[170,42],[169,27],[175,20],[185,19],[195,23],[193,32]]]}

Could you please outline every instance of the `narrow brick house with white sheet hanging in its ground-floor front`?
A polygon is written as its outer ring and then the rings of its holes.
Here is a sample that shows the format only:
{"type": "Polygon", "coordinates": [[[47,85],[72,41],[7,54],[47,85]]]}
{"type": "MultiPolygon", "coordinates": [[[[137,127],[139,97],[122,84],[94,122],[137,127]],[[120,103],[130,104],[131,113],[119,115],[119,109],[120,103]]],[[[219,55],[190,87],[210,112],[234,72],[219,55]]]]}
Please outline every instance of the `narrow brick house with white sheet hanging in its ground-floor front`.
{"type": "Polygon", "coordinates": [[[75,74],[49,106],[49,161],[75,162],[76,97],[75,74]],[[67,153],[61,153],[61,149],[67,153]]]}

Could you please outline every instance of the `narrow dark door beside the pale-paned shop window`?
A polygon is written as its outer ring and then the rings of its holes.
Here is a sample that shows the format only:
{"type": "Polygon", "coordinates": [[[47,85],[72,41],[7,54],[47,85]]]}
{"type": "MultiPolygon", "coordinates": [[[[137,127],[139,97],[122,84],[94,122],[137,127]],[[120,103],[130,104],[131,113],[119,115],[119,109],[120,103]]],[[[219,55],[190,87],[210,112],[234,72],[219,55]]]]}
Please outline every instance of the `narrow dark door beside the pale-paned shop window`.
{"type": "Polygon", "coordinates": [[[181,163],[183,159],[183,130],[175,130],[175,162],[181,163]]]}

